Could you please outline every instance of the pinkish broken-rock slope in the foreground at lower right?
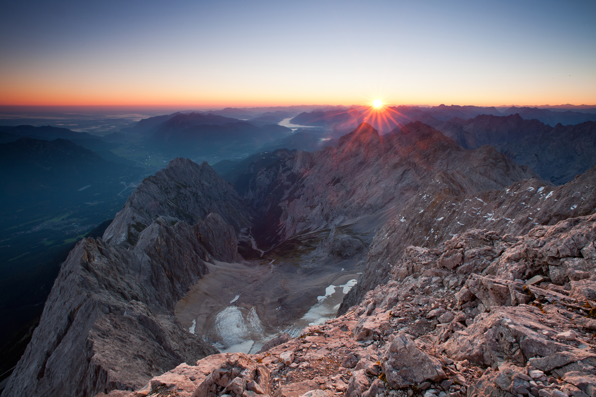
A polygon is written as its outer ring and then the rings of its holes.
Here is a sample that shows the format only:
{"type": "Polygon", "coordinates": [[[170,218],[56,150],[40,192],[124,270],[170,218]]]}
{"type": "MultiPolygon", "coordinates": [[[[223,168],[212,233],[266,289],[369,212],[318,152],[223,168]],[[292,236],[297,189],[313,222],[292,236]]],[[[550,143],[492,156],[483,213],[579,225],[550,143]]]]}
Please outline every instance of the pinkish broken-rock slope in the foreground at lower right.
{"type": "Polygon", "coordinates": [[[109,396],[594,397],[595,240],[592,214],[408,246],[346,314],[109,396]]]}

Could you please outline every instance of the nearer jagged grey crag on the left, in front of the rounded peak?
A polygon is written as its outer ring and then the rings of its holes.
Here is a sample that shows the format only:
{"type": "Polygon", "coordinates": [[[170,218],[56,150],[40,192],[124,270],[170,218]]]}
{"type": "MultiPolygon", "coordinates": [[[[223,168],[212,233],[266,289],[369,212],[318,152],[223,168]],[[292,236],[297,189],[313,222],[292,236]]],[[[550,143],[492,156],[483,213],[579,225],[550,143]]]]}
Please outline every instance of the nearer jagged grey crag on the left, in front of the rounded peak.
{"type": "Polygon", "coordinates": [[[217,350],[174,316],[204,261],[234,261],[236,236],[218,214],[189,226],[157,217],[135,246],[83,239],[61,267],[41,322],[4,396],[92,396],[138,389],[217,350]]]}

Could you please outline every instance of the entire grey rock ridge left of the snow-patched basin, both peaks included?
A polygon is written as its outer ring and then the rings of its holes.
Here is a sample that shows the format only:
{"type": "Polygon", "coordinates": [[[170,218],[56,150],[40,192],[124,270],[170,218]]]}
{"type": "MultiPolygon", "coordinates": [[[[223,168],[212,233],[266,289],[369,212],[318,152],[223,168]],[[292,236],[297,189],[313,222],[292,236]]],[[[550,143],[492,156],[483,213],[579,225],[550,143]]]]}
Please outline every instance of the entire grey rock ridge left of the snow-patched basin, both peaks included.
{"type": "Polygon", "coordinates": [[[241,227],[243,210],[232,187],[206,163],[177,159],[145,180],[106,240],[82,240],[62,265],[2,395],[135,389],[180,362],[216,353],[173,311],[207,272],[204,261],[242,260],[234,227],[209,211],[241,227]]]}

